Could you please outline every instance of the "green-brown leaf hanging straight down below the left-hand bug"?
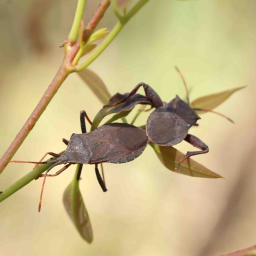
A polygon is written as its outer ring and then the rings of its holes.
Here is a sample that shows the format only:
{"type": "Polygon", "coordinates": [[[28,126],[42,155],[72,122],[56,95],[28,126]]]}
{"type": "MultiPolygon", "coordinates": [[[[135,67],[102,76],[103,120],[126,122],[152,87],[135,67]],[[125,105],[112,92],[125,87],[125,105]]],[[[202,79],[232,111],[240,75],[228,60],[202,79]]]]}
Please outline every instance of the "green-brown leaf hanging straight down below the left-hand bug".
{"type": "Polygon", "coordinates": [[[79,169],[77,164],[77,171],[72,182],[68,185],[63,195],[63,203],[68,212],[72,222],[77,228],[77,231],[88,243],[93,241],[92,225],[86,207],[83,202],[83,197],[79,190],[79,180],[76,179],[79,169]]]}

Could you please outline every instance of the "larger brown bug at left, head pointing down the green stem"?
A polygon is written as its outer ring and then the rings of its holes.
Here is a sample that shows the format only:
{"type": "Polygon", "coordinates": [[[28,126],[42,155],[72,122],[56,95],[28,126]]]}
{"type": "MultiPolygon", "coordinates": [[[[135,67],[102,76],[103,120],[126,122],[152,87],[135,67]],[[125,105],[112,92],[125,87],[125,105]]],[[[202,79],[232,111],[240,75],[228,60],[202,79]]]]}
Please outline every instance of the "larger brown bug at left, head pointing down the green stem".
{"type": "MultiPolygon", "coordinates": [[[[72,134],[70,141],[63,139],[67,144],[67,150],[63,155],[47,152],[47,154],[57,157],[52,161],[11,161],[12,163],[36,163],[48,164],[53,163],[45,174],[38,211],[42,204],[42,195],[46,177],[57,176],[65,171],[71,164],[95,164],[95,172],[102,190],[107,191],[104,181],[102,180],[97,165],[99,163],[127,163],[140,156],[147,147],[148,137],[144,130],[129,124],[106,124],[95,129],[92,132],[86,132],[85,119],[90,122],[85,111],[81,111],[81,129],[82,134],[72,134]],[[66,164],[61,170],[54,175],[48,175],[48,172],[57,165],[66,164]]],[[[90,122],[92,123],[92,122],[90,122]]],[[[45,156],[47,155],[45,154],[45,156]]],[[[44,156],[44,157],[45,157],[44,156]]],[[[43,159],[44,159],[43,157],[43,159]]]]}

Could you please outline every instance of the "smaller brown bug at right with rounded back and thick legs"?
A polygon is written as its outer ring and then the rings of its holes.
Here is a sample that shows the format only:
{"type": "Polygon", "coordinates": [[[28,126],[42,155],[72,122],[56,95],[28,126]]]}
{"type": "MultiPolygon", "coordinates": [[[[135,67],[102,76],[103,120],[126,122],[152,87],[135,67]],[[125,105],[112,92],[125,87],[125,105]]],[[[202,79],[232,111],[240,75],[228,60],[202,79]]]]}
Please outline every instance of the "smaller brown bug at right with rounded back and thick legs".
{"type": "MultiPolygon", "coordinates": [[[[177,72],[179,72],[186,88],[187,102],[184,102],[184,100],[180,99],[179,96],[176,95],[175,99],[164,105],[159,95],[157,95],[157,93],[148,84],[140,83],[124,99],[119,100],[118,102],[115,102],[109,106],[116,106],[122,102],[125,102],[125,100],[134,95],[138,89],[143,86],[146,99],[150,100],[152,106],[156,108],[156,110],[154,110],[147,119],[146,131],[149,141],[156,143],[157,145],[170,147],[177,145],[182,140],[185,140],[194,147],[200,149],[200,151],[188,151],[186,156],[180,159],[179,163],[177,164],[175,169],[178,169],[180,163],[189,157],[209,152],[209,147],[203,141],[194,135],[188,134],[189,129],[193,125],[198,126],[196,122],[201,119],[195,111],[209,111],[217,115],[221,114],[208,109],[191,108],[189,106],[189,95],[186,82],[180,73],[179,68],[175,68],[177,72]]],[[[221,116],[227,118],[224,115],[221,116]]],[[[230,122],[233,122],[230,120],[230,118],[227,119],[230,122]]]]}

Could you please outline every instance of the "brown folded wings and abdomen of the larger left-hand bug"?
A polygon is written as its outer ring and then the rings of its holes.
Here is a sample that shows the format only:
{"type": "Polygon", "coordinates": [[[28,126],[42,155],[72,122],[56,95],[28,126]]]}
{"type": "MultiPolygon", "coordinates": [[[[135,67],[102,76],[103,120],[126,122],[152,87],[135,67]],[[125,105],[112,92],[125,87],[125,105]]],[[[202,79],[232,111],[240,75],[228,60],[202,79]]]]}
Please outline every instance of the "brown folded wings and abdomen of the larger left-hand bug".
{"type": "Polygon", "coordinates": [[[84,146],[90,152],[90,164],[132,161],[148,142],[145,131],[129,124],[107,124],[81,136],[86,137],[84,146]]]}

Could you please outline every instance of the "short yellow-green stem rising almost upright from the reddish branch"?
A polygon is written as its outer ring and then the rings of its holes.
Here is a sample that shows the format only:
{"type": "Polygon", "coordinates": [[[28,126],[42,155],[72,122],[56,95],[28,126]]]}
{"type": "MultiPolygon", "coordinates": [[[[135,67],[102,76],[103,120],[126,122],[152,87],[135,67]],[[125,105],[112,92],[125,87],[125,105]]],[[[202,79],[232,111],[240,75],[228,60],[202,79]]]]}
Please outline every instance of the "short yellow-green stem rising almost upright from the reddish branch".
{"type": "Polygon", "coordinates": [[[73,22],[72,28],[70,30],[70,33],[68,35],[68,42],[70,42],[70,43],[75,43],[77,40],[79,23],[80,23],[80,20],[83,19],[85,3],[86,3],[86,0],[78,0],[77,8],[76,8],[76,15],[74,17],[74,22],[73,22]]]}

